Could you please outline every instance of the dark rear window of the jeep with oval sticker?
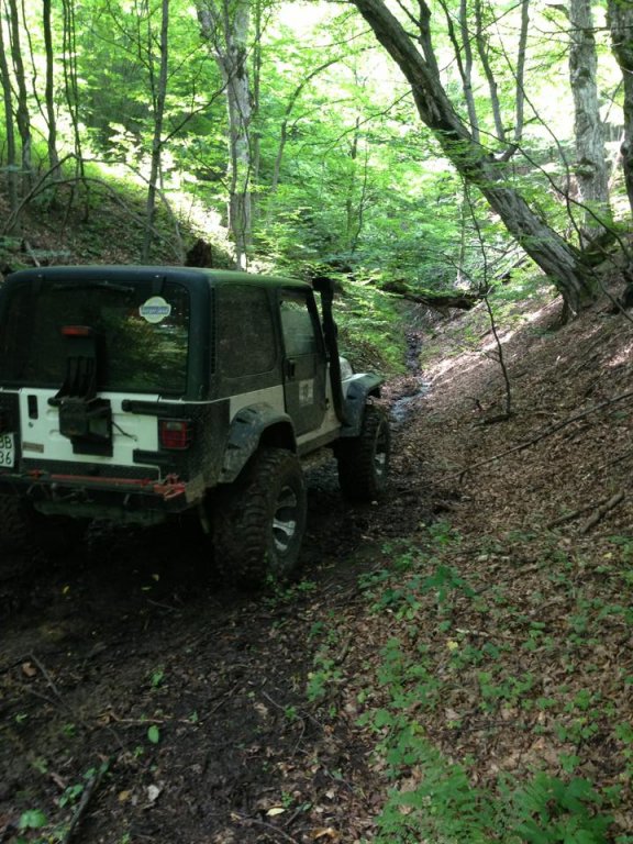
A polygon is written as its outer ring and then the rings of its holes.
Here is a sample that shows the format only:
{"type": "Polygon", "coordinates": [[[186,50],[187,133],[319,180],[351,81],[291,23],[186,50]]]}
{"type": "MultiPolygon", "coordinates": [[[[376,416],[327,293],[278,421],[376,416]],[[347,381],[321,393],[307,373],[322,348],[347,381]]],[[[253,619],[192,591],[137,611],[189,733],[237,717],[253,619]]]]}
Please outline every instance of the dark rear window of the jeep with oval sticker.
{"type": "Polygon", "coordinates": [[[78,345],[66,326],[92,330],[100,390],[181,395],[187,386],[189,292],[167,281],[33,282],[12,291],[0,338],[0,377],[59,388],[78,345]]]}

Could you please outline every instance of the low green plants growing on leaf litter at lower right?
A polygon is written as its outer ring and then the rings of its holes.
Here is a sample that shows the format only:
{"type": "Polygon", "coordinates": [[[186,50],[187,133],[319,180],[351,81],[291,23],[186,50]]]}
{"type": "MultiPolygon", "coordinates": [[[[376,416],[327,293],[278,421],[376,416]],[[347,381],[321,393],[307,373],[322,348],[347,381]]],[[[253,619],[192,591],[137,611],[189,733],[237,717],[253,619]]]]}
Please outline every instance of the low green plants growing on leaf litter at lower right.
{"type": "MultiPolygon", "coordinates": [[[[542,542],[536,535],[517,537],[529,545],[536,540],[542,542]]],[[[467,553],[504,554],[502,545],[484,544],[467,553]]],[[[609,719],[614,724],[609,746],[619,747],[619,782],[625,785],[633,773],[631,726],[618,723],[617,706],[590,686],[559,682],[543,693],[542,677],[522,668],[518,653],[538,651],[545,660],[551,653],[555,665],[565,653],[569,658],[580,648],[587,653],[600,624],[623,618],[625,609],[599,596],[589,599],[571,575],[576,567],[569,567],[568,555],[555,544],[541,545],[551,588],[576,606],[566,615],[574,633],[562,643],[537,612],[513,604],[508,585],[468,582],[459,571],[462,546],[449,524],[437,523],[414,542],[386,545],[388,567],[360,578],[373,611],[392,620],[379,665],[358,696],[359,724],[373,734],[393,782],[377,819],[377,844],[624,844],[625,835],[612,837],[621,787],[595,785],[584,773],[587,752],[592,758],[585,748],[598,734],[604,741],[609,719]],[[544,741],[556,743],[557,763],[548,757],[545,767],[532,757],[525,769],[491,773],[482,782],[473,776],[474,759],[448,758],[438,746],[437,738],[453,731],[456,746],[467,744],[471,730],[485,730],[493,745],[497,725],[511,729],[519,746],[524,730],[532,742],[542,732],[544,741]]],[[[614,560],[607,567],[621,571],[614,560]]],[[[534,595],[526,603],[538,607],[544,600],[534,595]]],[[[592,671],[589,658],[584,671],[592,671]]]]}

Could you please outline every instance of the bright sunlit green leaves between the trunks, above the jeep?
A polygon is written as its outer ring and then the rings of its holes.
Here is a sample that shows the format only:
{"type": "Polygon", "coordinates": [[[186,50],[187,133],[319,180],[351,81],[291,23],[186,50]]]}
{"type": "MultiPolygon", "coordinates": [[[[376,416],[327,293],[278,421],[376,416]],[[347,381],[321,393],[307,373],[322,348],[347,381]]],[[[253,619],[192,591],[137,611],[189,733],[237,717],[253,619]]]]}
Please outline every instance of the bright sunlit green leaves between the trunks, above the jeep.
{"type": "MultiPolygon", "coordinates": [[[[23,5],[35,170],[42,171],[48,129],[42,109],[44,37],[40,12],[23,5]]],[[[175,210],[180,225],[192,223],[209,237],[210,229],[225,224],[229,198],[225,89],[213,45],[200,40],[195,9],[184,0],[169,5],[159,198],[175,210]]],[[[448,27],[452,15],[459,16],[453,5],[442,4],[432,15],[433,42],[443,56],[459,49],[459,27],[448,27]]],[[[492,157],[507,147],[498,137],[491,89],[510,134],[517,118],[512,53],[518,47],[519,7],[503,4],[499,11],[484,3],[477,9],[482,29],[469,47],[481,84],[474,86],[474,102],[482,143],[492,157]],[[485,81],[488,73],[495,76],[491,88],[490,80],[485,81]]],[[[479,31],[474,10],[467,13],[466,29],[479,31]]],[[[549,26],[552,15],[552,10],[535,12],[540,26],[549,26]]],[[[155,131],[159,22],[155,0],[90,0],[70,16],[54,8],[58,146],[80,146],[86,159],[81,168],[75,165],[75,175],[82,175],[90,159],[106,162],[110,173],[120,167],[127,182],[145,191],[155,131]],[[65,30],[69,23],[70,32],[65,30]]],[[[552,227],[574,238],[573,206],[565,201],[575,155],[574,127],[567,119],[567,56],[544,44],[540,32],[534,26],[526,45],[530,101],[524,135],[513,166],[499,163],[504,177],[499,187],[520,191],[552,227]]],[[[465,201],[462,177],[437,138],[422,126],[400,73],[376,49],[360,15],[349,9],[341,12],[336,4],[281,3],[269,11],[257,37],[247,51],[254,106],[248,138],[253,266],[303,276],[321,263],[341,271],[351,299],[362,306],[373,298],[366,286],[399,284],[412,293],[478,289],[509,275],[512,279],[501,293],[514,289],[522,295],[514,241],[477,191],[465,201]]],[[[619,74],[607,42],[598,41],[599,81],[611,101],[619,74]]],[[[443,65],[443,84],[468,122],[464,80],[454,70],[453,62],[443,65]]],[[[617,111],[609,112],[614,123],[617,111]]],[[[56,197],[56,190],[37,191],[31,204],[48,207],[56,197]]],[[[170,237],[177,243],[174,232],[170,237]]],[[[99,259],[102,252],[97,244],[85,257],[99,259]]],[[[343,335],[357,358],[381,357],[389,371],[398,371],[401,343],[389,326],[398,320],[398,309],[387,300],[370,306],[357,318],[353,304],[348,322],[342,321],[343,335]],[[358,344],[353,342],[356,336],[358,344]]]]}

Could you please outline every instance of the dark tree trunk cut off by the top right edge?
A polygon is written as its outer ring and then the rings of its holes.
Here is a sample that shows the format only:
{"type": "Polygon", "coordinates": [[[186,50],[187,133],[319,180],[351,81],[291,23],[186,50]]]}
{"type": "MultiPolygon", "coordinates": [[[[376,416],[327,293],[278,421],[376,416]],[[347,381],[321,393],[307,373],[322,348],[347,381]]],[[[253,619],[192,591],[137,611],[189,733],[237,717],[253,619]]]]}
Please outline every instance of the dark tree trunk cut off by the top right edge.
{"type": "Polygon", "coordinates": [[[633,4],[629,0],[608,0],[607,8],[611,45],[624,84],[624,140],[620,151],[626,193],[633,210],[633,4]]]}

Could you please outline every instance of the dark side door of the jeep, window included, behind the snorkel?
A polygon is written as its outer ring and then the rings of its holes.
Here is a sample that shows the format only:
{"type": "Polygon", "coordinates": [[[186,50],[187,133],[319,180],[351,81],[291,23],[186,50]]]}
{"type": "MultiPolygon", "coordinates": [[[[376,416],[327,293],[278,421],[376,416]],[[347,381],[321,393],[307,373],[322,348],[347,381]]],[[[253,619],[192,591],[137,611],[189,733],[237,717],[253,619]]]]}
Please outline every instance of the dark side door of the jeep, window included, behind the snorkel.
{"type": "Polygon", "coordinates": [[[323,337],[311,291],[281,291],[279,312],[286,410],[292,418],[296,433],[300,435],[320,427],[327,407],[323,337]]]}

